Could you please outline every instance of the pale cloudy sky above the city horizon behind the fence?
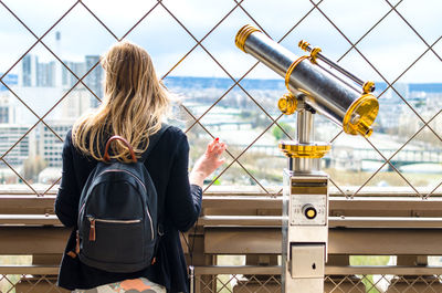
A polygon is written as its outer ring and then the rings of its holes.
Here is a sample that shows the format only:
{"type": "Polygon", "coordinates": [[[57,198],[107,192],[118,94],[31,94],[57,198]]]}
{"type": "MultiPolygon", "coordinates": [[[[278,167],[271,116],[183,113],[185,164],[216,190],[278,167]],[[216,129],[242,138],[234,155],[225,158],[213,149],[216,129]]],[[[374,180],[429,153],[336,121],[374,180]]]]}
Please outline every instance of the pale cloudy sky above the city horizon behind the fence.
{"type": "MultiPolygon", "coordinates": [[[[156,0],[84,0],[83,3],[75,0],[0,0],[0,72],[8,71],[42,35],[42,41],[62,60],[82,61],[84,55],[103,54],[117,41],[115,36],[125,35],[154,8],[125,39],[150,53],[159,76],[175,66],[170,75],[241,77],[255,63],[253,56],[234,45],[234,36],[241,27],[261,27],[273,40],[280,41],[297,24],[282,41],[297,55],[303,54],[297,48],[298,41],[307,40],[361,80],[442,82],[440,0],[164,0],[161,3],[156,0]],[[315,3],[319,3],[317,9],[315,3]],[[390,11],[396,4],[400,15],[390,11]],[[70,9],[67,15],[48,32],[70,9]],[[206,36],[225,15],[225,20],[206,36]],[[375,23],[378,25],[370,30],[375,23]],[[55,42],[55,32],[61,33],[60,43],[55,42]],[[201,39],[202,46],[198,45],[179,62],[201,39]],[[346,54],[351,43],[357,43],[357,50],[346,54]],[[410,70],[402,75],[408,67],[410,70]]],[[[40,43],[30,54],[39,55],[43,62],[54,60],[40,43]]],[[[262,64],[248,77],[281,79],[262,64]]]]}

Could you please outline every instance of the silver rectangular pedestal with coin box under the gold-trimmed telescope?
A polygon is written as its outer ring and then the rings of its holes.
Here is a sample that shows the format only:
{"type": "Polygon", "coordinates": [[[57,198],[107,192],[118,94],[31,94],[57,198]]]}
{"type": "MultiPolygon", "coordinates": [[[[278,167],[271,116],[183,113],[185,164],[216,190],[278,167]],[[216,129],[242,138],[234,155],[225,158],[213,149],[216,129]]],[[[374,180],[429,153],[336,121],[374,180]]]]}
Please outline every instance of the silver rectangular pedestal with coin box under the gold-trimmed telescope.
{"type": "Polygon", "coordinates": [[[324,292],[328,176],[284,171],[283,292],[324,292]]]}

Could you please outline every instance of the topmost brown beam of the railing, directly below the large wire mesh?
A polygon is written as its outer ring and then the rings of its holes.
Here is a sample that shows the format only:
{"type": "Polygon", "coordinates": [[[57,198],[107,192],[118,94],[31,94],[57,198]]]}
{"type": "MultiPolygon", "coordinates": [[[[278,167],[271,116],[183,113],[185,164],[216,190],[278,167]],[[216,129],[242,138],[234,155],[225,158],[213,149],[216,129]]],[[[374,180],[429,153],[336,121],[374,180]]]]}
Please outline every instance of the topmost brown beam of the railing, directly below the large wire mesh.
{"type": "MultiPolygon", "coordinates": [[[[32,195],[0,195],[0,214],[53,214],[55,196],[38,197],[32,195]]],[[[229,210],[241,214],[246,209],[274,209],[281,212],[282,196],[272,197],[264,193],[233,193],[233,191],[208,193],[202,200],[204,210],[229,210]]],[[[329,197],[330,216],[415,216],[442,217],[442,197],[432,196],[428,199],[397,193],[382,196],[364,196],[345,198],[332,195],[329,197]],[[367,212],[370,212],[369,214],[367,212]],[[391,213],[396,212],[396,213],[391,213]],[[390,214],[391,213],[391,214],[390,214]],[[431,214],[429,214],[431,213],[431,214]]]]}

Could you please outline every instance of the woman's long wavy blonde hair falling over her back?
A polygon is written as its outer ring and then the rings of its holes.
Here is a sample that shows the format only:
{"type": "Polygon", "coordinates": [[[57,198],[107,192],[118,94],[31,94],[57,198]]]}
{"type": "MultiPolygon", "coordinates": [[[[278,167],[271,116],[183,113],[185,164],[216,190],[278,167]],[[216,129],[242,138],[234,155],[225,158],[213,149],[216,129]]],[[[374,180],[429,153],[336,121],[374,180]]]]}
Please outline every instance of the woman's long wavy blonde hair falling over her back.
{"type": "MultiPolygon", "coordinates": [[[[161,128],[169,96],[158,81],[149,54],[130,42],[113,45],[102,57],[106,73],[104,98],[97,111],[75,122],[72,140],[82,153],[103,160],[104,139],[119,135],[137,157],[147,149],[149,137],[161,128]]],[[[130,161],[129,149],[113,142],[110,158],[130,161]]]]}

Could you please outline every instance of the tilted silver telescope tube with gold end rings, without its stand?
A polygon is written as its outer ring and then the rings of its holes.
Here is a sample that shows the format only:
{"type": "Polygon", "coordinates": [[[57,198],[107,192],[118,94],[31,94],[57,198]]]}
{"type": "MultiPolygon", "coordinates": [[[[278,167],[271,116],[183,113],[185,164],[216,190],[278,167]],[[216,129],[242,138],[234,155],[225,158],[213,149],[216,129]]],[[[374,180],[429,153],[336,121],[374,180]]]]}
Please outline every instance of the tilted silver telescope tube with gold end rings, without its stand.
{"type": "MultiPolygon", "coordinates": [[[[251,25],[238,32],[235,43],[281,75],[293,96],[305,94],[305,103],[341,126],[347,134],[371,135],[371,124],[379,109],[378,100],[365,86],[358,88],[360,81],[337,64],[337,70],[345,76],[339,77],[322,66],[316,57],[328,65],[334,63],[319,53],[320,49],[312,49],[305,42],[304,49],[308,48],[311,55],[299,57],[251,25]]],[[[371,85],[372,91],[373,83],[371,85]]]]}

